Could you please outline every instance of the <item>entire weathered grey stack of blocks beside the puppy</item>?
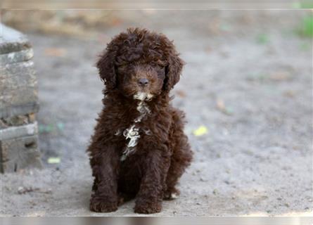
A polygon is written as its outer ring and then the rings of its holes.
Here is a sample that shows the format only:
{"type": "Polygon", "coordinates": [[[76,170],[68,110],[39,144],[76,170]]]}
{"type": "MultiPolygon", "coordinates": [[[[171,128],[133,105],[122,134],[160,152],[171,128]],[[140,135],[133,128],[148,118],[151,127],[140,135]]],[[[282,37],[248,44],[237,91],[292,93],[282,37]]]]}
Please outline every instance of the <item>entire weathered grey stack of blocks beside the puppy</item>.
{"type": "Polygon", "coordinates": [[[39,101],[32,46],[24,34],[0,26],[0,172],[40,168],[35,120],[39,101]]]}

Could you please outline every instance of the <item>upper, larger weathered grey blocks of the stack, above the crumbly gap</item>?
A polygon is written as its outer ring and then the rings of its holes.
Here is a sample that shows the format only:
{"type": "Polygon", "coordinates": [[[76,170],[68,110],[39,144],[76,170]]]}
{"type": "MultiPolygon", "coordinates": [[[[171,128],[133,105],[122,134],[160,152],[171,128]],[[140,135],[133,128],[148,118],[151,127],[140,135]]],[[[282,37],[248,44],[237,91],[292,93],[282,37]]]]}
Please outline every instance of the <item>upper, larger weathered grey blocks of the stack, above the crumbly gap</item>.
{"type": "Polygon", "coordinates": [[[33,51],[25,35],[1,25],[0,119],[37,113],[37,77],[33,51]]]}

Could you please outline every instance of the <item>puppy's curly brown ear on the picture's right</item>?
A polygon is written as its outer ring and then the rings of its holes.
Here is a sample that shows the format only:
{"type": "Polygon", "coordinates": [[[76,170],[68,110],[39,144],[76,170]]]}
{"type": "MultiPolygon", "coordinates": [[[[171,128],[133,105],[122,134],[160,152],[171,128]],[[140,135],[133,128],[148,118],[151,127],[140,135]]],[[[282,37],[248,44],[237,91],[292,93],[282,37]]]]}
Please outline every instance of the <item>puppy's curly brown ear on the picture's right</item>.
{"type": "Polygon", "coordinates": [[[165,67],[165,91],[170,91],[179,82],[184,64],[184,61],[179,58],[179,53],[175,51],[173,46],[167,59],[167,66],[165,67]]]}

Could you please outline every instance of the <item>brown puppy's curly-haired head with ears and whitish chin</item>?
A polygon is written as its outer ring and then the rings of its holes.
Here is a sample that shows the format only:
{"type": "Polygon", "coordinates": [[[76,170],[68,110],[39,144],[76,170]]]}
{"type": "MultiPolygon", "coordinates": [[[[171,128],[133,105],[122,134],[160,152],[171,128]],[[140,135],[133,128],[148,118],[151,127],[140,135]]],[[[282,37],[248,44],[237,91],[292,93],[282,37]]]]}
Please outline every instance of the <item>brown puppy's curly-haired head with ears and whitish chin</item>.
{"type": "Polygon", "coordinates": [[[184,62],[163,34],[128,29],[113,38],[96,64],[108,91],[140,100],[169,92],[184,62]]]}

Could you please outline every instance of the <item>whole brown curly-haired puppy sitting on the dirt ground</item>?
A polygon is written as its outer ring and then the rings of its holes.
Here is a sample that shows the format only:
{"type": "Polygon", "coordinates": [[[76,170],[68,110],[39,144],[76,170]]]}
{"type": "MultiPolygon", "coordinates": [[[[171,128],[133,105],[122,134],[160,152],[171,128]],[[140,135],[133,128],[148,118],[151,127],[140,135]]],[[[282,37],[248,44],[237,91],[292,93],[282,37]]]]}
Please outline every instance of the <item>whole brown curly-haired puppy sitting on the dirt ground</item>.
{"type": "Polygon", "coordinates": [[[135,212],[155,213],[179,194],[192,159],[184,113],[169,92],[184,63],[163,34],[128,29],[96,64],[106,84],[103,110],[88,152],[94,176],[90,209],[112,212],[136,196],[135,212]]]}

